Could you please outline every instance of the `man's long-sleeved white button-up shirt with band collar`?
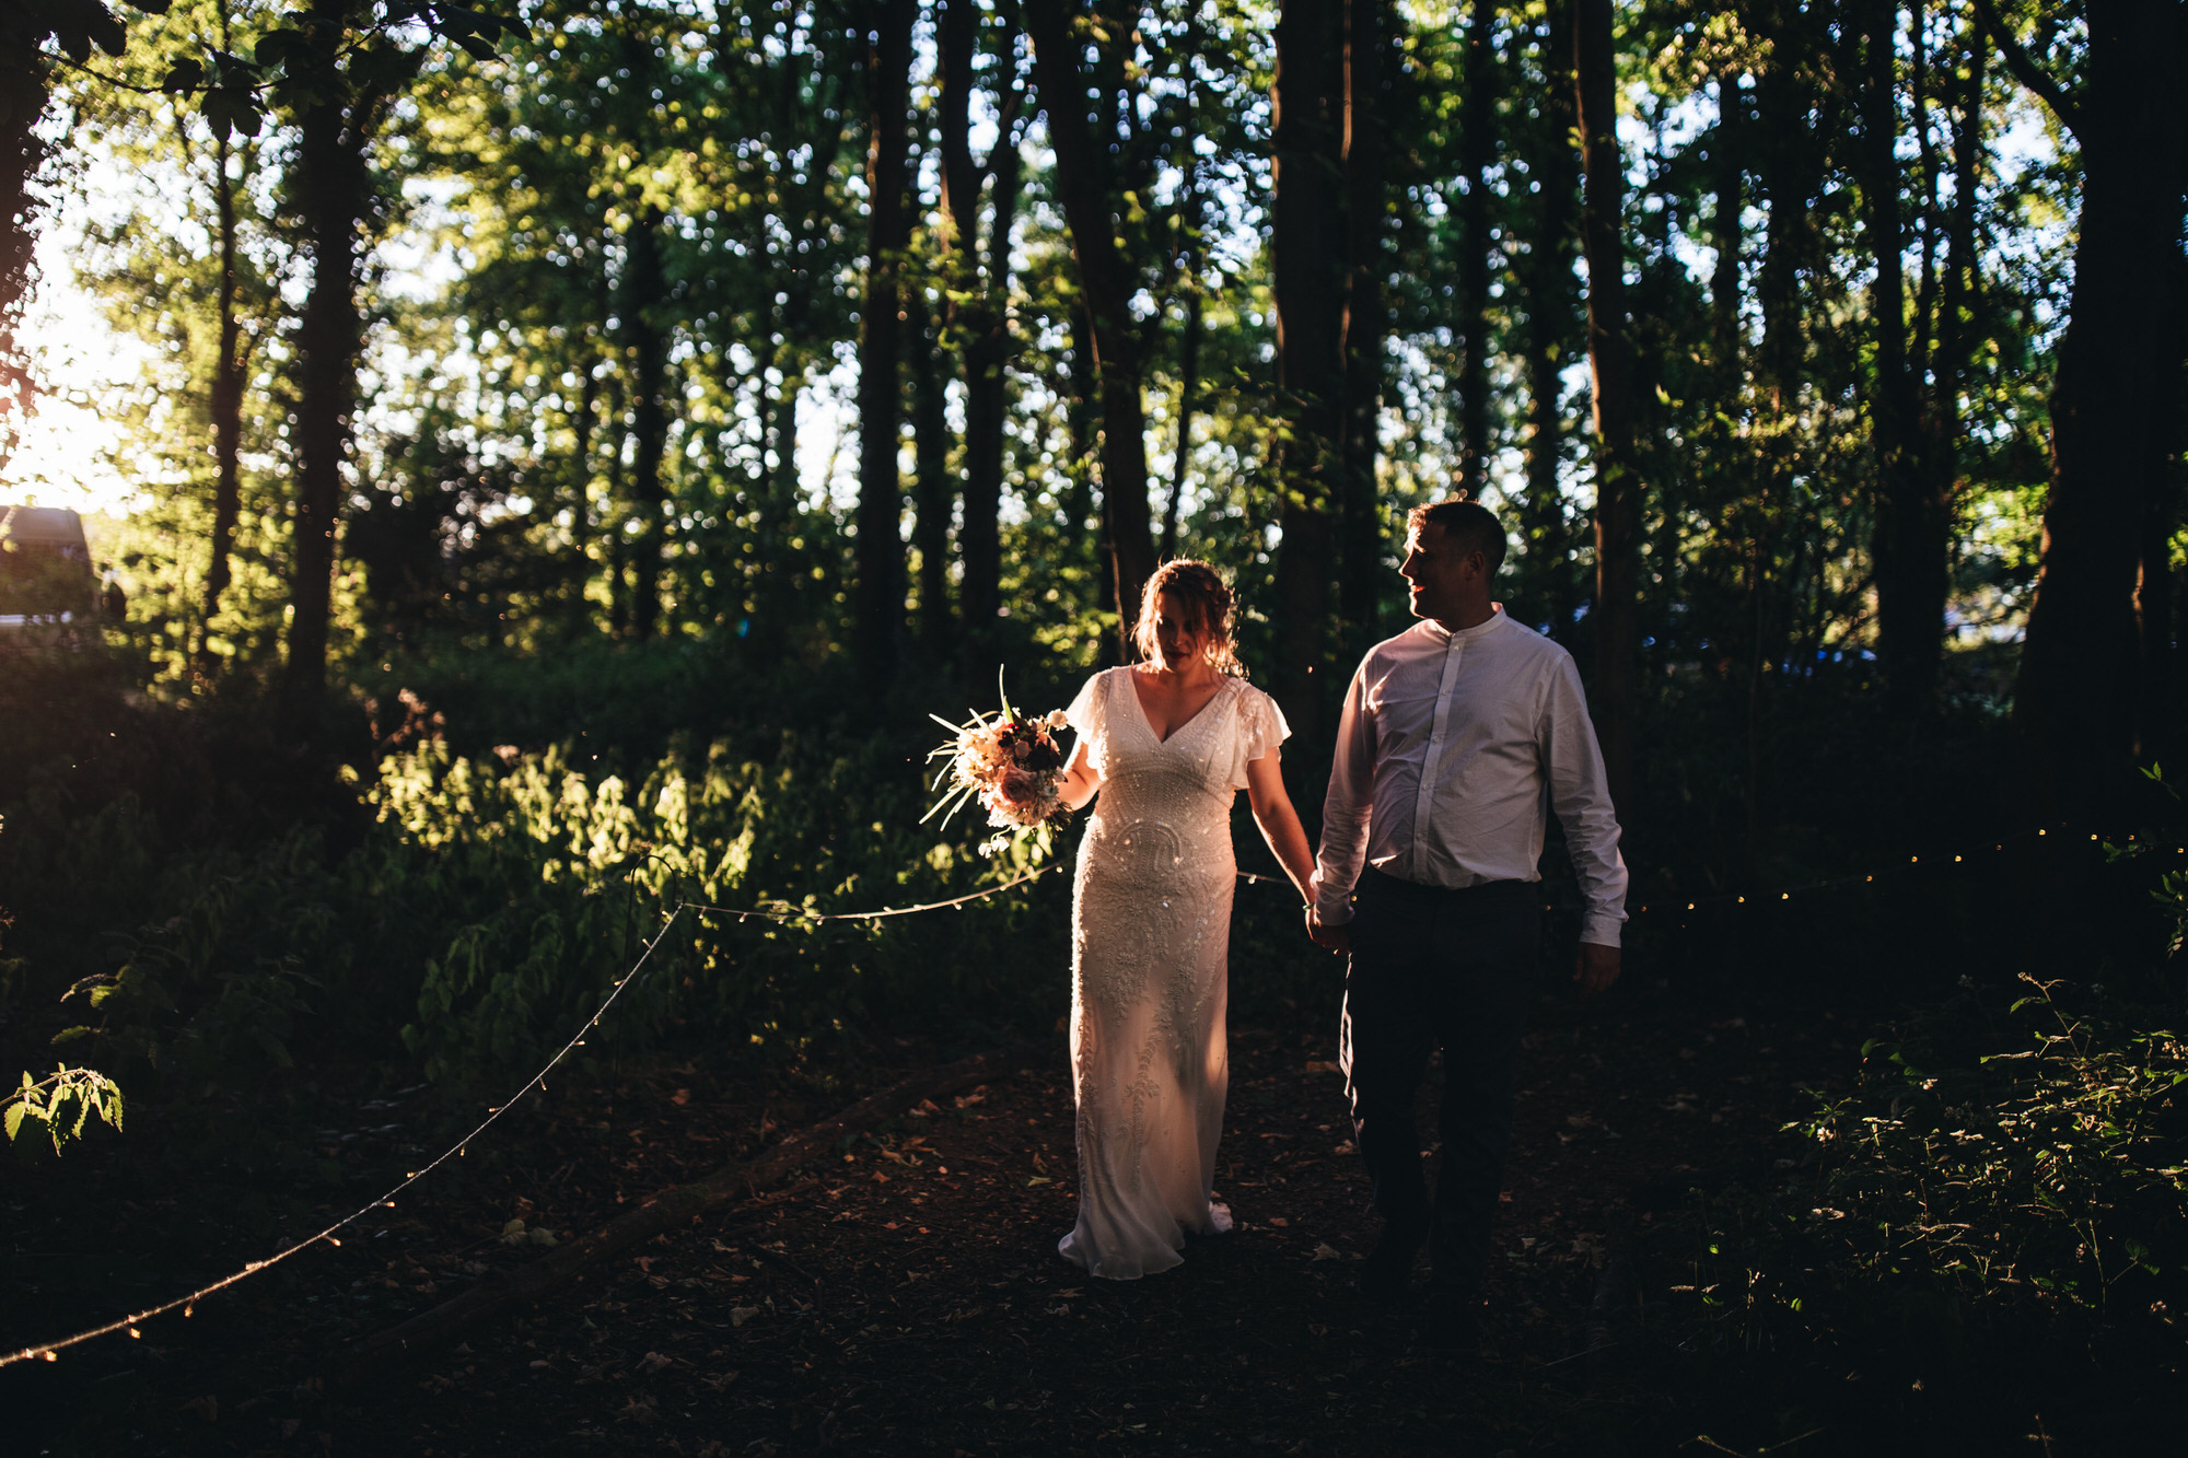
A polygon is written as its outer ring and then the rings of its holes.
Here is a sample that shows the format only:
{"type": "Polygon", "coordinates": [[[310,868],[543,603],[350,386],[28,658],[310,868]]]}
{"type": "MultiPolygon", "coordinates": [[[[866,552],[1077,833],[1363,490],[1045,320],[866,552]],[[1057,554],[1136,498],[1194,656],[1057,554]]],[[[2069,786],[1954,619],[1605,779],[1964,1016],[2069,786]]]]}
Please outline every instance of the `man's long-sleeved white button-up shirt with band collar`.
{"type": "Polygon", "coordinates": [[[1352,919],[1361,865],[1424,887],[1540,880],[1547,810],[1580,873],[1580,939],[1617,946],[1626,860],[1573,655],[1503,609],[1457,633],[1416,622],[1346,692],[1315,915],[1352,919]]]}

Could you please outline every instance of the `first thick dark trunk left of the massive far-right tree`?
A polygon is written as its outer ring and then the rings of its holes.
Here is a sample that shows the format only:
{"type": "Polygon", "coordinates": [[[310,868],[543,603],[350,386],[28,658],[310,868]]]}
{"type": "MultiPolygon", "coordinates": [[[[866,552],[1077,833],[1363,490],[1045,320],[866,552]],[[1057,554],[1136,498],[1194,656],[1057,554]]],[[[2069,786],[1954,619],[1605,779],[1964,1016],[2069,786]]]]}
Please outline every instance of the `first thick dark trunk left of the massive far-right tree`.
{"type": "MultiPolygon", "coordinates": [[[[1921,401],[1908,361],[1906,232],[1899,217],[1899,9],[1895,0],[1864,0],[1860,61],[1860,180],[1875,258],[1869,317],[1875,328],[1875,368],[1869,392],[1869,433],[1877,453],[1877,646],[1886,705],[1897,718],[1919,718],[1936,707],[1945,633],[1947,519],[1925,468],[1921,401]]],[[[1921,37],[1917,37],[1919,42],[1921,37]]]]}

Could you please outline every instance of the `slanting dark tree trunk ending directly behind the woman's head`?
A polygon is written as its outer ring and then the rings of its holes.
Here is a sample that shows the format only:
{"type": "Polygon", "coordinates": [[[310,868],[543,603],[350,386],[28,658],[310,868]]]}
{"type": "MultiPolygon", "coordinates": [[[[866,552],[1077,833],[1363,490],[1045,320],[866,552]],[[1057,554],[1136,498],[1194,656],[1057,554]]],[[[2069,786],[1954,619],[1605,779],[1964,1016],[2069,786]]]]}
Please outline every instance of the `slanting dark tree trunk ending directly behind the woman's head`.
{"type": "Polygon", "coordinates": [[[1022,4],[1020,15],[1033,39],[1033,72],[1057,153],[1057,193],[1092,320],[1094,363],[1101,372],[1101,514],[1114,574],[1118,648],[1129,655],[1140,591],[1155,571],[1153,512],[1147,504],[1147,405],[1140,398],[1147,363],[1131,317],[1133,282],[1116,243],[1107,151],[1096,147],[1087,129],[1087,81],[1072,15],[1052,0],[1022,4]]]}

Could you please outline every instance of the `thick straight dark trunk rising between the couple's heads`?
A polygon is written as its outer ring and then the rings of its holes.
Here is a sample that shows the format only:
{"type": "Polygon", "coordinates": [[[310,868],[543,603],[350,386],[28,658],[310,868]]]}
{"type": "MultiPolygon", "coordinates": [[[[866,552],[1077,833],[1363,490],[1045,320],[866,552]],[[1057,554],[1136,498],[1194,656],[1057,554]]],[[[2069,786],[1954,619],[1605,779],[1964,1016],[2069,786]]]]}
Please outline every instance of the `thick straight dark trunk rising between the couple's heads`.
{"type": "Polygon", "coordinates": [[[1330,580],[1341,488],[1346,267],[1341,193],[1343,31],[1339,0],[1284,0],[1276,22],[1276,361],[1287,433],[1278,444],[1276,698],[1306,744],[1322,740],[1330,676],[1330,580]]]}

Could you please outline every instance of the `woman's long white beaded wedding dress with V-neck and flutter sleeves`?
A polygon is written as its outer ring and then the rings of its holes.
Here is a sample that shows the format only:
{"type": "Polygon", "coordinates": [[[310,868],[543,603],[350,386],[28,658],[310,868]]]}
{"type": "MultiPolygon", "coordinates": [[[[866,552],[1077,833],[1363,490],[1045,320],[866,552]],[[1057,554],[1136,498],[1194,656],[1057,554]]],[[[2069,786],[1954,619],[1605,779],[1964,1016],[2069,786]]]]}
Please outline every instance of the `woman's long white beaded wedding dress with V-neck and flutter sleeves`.
{"type": "Polygon", "coordinates": [[[1131,1281],[1177,1265],[1188,1230],[1230,1230],[1208,1197],[1230,1090],[1230,810],[1289,729],[1225,679],[1162,740],[1129,668],[1094,674],[1066,716],[1103,786],[1072,893],[1079,1224],[1057,1250],[1131,1281]]]}

